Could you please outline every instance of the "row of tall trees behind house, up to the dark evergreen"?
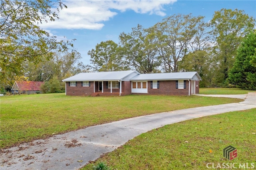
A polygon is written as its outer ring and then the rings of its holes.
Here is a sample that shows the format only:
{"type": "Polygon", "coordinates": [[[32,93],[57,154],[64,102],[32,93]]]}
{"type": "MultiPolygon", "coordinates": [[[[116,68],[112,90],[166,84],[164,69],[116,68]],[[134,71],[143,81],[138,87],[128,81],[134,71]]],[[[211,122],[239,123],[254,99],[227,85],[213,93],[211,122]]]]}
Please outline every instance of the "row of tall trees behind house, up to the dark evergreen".
{"type": "Polygon", "coordinates": [[[138,24],[88,52],[94,71],[141,73],[197,71],[201,87],[228,87],[238,47],[255,27],[242,10],[222,9],[209,22],[204,16],[174,14],[152,27],[138,24]]]}

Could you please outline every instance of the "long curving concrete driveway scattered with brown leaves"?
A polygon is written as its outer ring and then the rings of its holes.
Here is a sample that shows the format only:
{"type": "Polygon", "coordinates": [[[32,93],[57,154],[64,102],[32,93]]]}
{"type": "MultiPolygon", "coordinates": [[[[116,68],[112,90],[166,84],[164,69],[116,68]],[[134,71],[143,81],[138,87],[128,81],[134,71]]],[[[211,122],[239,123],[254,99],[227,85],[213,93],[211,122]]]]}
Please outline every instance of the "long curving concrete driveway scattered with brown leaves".
{"type": "Polygon", "coordinates": [[[134,117],[4,149],[0,154],[0,168],[1,170],[78,169],[152,129],[197,117],[256,108],[256,93],[240,97],[244,97],[244,102],[134,117]]]}

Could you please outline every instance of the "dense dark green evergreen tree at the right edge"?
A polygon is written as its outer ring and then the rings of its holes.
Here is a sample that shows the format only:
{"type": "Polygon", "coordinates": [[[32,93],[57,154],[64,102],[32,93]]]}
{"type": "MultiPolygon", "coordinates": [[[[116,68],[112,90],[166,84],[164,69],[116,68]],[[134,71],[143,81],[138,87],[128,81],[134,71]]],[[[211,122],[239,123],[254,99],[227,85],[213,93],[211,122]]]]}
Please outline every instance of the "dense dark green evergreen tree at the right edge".
{"type": "Polygon", "coordinates": [[[238,88],[256,90],[256,30],[251,32],[239,47],[228,80],[238,88]]]}

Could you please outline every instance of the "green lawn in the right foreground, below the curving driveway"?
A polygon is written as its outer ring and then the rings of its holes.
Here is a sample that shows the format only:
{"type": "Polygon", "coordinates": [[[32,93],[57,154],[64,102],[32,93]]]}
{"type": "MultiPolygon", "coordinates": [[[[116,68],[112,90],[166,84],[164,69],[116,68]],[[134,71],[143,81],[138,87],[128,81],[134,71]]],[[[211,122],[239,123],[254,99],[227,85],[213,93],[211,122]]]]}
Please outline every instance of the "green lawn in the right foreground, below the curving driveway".
{"type": "Polygon", "coordinates": [[[92,170],[99,162],[112,170],[206,170],[223,163],[255,168],[255,134],[256,109],[191,119],[139,135],[82,170],[92,170]],[[223,157],[229,145],[237,149],[233,160],[223,157]]]}

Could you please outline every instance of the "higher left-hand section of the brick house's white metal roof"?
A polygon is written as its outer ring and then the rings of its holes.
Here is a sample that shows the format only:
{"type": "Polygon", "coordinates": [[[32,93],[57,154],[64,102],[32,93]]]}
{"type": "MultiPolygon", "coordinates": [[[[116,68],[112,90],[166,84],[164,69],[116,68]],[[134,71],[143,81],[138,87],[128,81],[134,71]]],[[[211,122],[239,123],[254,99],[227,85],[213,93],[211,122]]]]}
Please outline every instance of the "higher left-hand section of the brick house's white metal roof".
{"type": "Polygon", "coordinates": [[[128,71],[111,71],[111,72],[84,72],[76,74],[72,77],[62,80],[63,82],[70,81],[108,81],[108,80],[122,80],[132,73],[139,74],[136,70],[128,71]]]}

